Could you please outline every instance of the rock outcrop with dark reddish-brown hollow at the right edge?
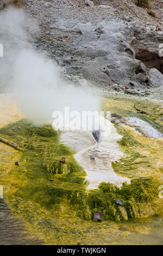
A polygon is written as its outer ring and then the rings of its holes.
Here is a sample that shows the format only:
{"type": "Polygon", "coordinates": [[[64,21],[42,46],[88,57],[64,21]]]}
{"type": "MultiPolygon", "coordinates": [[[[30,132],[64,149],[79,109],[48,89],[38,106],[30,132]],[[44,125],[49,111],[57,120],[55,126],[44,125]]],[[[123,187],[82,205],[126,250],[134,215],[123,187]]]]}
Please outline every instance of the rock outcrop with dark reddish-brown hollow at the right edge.
{"type": "MultiPolygon", "coordinates": [[[[155,68],[163,74],[163,57],[161,54],[163,48],[162,28],[149,22],[142,26],[139,21],[129,22],[128,28],[133,32],[130,45],[135,48],[136,58],[140,59],[148,69],[155,68]]],[[[162,83],[159,85],[162,86],[162,83]]],[[[149,86],[151,86],[150,83],[149,86]]],[[[153,86],[158,86],[158,84],[155,83],[153,86]]]]}

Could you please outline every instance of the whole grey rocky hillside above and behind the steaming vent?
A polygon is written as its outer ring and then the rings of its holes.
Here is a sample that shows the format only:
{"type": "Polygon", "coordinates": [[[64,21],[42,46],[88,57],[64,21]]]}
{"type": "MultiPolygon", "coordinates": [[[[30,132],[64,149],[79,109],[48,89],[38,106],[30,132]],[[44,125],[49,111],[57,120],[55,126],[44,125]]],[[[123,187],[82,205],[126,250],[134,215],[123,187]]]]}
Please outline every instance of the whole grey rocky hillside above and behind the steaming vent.
{"type": "Polygon", "coordinates": [[[150,1],[153,17],[133,2],[27,0],[23,9],[39,23],[34,46],[68,78],[143,96],[163,86],[163,3],[150,1]]]}

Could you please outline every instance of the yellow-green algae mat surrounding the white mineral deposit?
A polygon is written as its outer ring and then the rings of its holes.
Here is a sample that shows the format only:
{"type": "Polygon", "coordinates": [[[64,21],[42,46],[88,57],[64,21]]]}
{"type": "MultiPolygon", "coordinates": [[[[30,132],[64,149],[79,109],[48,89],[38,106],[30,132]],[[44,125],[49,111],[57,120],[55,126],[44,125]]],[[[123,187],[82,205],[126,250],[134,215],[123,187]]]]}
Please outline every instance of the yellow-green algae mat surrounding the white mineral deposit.
{"type": "MultiPolygon", "coordinates": [[[[104,95],[101,108],[123,118],[140,118],[163,132],[159,102],[104,95]]],[[[124,156],[112,162],[112,168],[131,183],[118,188],[103,182],[91,191],[74,152],[60,143],[60,132],[51,125],[35,126],[22,119],[0,129],[1,137],[24,149],[0,144],[5,200],[14,216],[46,244],[161,244],[163,199],[158,188],[163,184],[163,139],[142,136],[127,125],[115,126],[122,135],[118,144],[124,156]],[[62,157],[65,163],[59,162],[62,157]],[[116,204],[117,198],[123,207],[116,204]],[[102,223],[92,221],[98,210],[103,211],[102,223]]]]}

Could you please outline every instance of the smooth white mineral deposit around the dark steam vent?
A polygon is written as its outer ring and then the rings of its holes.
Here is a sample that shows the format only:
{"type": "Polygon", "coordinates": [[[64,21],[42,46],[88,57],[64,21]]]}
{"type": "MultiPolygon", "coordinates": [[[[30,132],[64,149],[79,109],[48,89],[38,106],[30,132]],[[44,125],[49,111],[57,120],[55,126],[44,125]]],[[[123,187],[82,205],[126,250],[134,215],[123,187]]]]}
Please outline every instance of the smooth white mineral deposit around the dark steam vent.
{"type": "Polygon", "coordinates": [[[114,125],[107,119],[100,124],[99,142],[96,142],[91,131],[62,132],[61,141],[74,149],[78,163],[84,168],[89,181],[88,189],[97,188],[101,182],[111,182],[121,186],[130,179],[118,176],[111,167],[111,162],[123,155],[117,141],[121,139],[114,125]]]}

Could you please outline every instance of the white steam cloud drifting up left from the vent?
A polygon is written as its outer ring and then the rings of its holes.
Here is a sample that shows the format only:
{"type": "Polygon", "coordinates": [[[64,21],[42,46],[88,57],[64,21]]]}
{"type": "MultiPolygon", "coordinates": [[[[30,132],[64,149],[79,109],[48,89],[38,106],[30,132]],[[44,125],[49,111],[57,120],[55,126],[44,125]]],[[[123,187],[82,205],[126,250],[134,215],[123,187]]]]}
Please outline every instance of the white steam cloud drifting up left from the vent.
{"type": "MultiPolygon", "coordinates": [[[[14,93],[28,118],[42,123],[52,120],[54,111],[98,111],[99,99],[85,81],[73,86],[61,77],[59,66],[32,47],[39,29],[22,10],[1,11],[0,28],[4,57],[0,59],[3,88],[14,93]]],[[[0,88],[1,88],[0,87],[0,88]]]]}

